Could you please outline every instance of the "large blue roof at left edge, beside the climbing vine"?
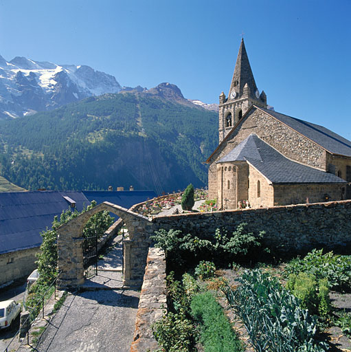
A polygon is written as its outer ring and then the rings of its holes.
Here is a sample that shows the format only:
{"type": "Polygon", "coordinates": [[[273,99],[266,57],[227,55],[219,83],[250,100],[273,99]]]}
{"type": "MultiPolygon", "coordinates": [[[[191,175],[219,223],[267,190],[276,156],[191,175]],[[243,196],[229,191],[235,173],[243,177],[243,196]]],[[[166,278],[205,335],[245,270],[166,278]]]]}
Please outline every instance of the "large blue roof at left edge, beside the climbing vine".
{"type": "Polygon", "coordinates": [[[63,197],[75,201],[78,211],[90,204],[82,192],[75,191],[0,193],[0,254],[41,245],[40,233],[70,206],[63,197]]]}

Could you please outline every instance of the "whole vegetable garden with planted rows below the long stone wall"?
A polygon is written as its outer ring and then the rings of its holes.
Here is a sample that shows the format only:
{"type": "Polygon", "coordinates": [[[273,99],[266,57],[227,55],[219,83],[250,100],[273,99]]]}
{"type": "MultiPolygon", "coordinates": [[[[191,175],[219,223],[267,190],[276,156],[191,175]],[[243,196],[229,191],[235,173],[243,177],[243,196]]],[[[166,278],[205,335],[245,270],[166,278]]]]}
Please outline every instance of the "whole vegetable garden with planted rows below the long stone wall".
{"type": "Polygon", "coordinates": [[[168,267],[167,309],[152,326],[159,351],[351,351],[351,256],[277,261],[264,232],[245,226],[202,239],[156,232],[168,267]]]}

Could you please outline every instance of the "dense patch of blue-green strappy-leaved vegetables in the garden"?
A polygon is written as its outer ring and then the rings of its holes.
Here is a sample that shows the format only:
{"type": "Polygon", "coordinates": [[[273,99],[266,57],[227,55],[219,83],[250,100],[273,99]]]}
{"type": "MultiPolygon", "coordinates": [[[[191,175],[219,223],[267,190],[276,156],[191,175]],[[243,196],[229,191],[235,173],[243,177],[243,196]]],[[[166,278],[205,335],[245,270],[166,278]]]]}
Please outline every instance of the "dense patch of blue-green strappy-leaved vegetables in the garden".
{"type": "Polygon", "coordinates": [[[247,271],[234,291],[223,289],[229,305],[240,316],[256,351],[325,351],[314,340],[317,318],[302,309],[299,300],[276,278],[260,270],[247,271]]]}

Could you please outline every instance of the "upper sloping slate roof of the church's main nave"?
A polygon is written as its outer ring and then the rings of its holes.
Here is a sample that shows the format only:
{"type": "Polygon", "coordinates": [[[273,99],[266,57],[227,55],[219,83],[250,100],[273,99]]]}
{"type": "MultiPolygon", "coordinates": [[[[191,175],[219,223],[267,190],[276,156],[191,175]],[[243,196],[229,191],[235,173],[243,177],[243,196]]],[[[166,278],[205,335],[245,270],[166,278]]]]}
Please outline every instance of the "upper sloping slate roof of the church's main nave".
{"type": "Polygon", "coordinates": [[[283,122],[295,131],[308,137],[310,140],[313,140],[313,142],[316,142],[327,151],[330,151],[330,153],[351,157],[351,142],[346,140],[346,138],[341,137],[341,135],[326,129],[323,126],[319,126],[318,124],[312,124],[304,120],[299,120],[298,118],[292,118],[291,116],[267,110],[262,107],[257,108],[272,115],[280,122],[283,122]]]}

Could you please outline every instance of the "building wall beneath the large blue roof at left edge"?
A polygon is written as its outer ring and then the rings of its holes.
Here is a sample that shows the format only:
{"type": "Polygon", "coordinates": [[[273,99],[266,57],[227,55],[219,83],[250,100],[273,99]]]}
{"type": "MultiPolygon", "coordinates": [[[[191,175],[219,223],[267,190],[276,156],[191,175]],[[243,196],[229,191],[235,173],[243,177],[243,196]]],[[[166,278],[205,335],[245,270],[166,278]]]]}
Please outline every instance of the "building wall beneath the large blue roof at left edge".
{"type": "Polygon", "coordinates": [[[35,254],[39,248],[18,250],[0,255],[0,285],[8,283],[17,278],[28,276],[35,268],[35,254]]]}

